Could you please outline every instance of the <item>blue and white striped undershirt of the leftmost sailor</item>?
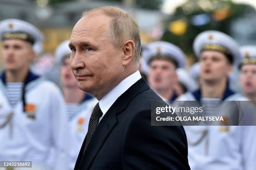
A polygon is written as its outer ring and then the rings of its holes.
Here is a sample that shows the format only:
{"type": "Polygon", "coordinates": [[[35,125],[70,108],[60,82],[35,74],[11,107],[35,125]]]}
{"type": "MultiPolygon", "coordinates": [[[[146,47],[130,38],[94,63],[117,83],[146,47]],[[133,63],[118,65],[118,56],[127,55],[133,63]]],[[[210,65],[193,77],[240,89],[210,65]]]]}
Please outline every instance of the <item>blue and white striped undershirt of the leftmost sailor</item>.
{"type": "Polygon", "coordinates": [[[12,107],[21,100],[23,82],[7,82],[6,91],[7,96],[12,107]]]}

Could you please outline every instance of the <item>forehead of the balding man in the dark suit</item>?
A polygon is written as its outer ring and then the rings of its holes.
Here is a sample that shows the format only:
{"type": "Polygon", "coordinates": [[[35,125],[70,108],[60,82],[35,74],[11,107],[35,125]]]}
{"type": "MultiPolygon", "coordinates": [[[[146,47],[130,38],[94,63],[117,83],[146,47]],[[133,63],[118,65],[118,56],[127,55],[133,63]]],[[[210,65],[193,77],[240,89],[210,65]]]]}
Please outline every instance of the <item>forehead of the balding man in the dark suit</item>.
{"type": "Polygon", "coordinates": [[[87,14],[82,17],[74,26],[70,43],[84,40],[97,40],[108,30],[111,18],[106,15],[87,14]]]}

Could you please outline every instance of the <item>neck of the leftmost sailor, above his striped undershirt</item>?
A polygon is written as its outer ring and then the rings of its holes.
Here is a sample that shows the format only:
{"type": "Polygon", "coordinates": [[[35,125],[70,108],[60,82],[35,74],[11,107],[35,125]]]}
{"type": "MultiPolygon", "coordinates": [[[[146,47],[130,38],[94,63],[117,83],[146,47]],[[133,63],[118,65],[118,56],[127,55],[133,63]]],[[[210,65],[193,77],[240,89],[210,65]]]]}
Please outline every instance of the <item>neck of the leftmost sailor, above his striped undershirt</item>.
{"type": "Polygon", "coordinates": [[[5,72],[6,82],[24,82],[29,69],[21,69],[21,70],[7,70],[5,72]]]}

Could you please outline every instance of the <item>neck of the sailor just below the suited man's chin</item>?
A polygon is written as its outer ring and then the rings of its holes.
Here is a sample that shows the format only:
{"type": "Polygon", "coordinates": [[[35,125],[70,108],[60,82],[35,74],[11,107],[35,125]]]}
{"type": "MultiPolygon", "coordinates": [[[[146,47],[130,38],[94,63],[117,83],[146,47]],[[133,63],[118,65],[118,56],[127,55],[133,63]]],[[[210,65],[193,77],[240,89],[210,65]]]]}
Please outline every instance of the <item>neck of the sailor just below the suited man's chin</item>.
{"type": "Polygon", "coordinates": [[[66,103],[79,104],[84,99],[85,92],[79,88],[65,88],[63,89],[64,99],[66,103]]]}

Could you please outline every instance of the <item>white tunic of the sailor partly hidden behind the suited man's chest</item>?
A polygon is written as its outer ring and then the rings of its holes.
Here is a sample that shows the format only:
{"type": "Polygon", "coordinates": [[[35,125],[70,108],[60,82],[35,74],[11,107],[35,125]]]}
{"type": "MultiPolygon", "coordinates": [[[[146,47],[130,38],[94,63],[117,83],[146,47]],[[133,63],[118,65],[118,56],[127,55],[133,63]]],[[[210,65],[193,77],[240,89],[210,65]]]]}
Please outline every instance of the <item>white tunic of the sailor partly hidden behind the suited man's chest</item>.
{"type": "Polygon", "coordinates": [[[70,170],[74,170],[79,151],[88,131],[89,120],[92,114],[92,110],[97,102],[97,99],[95,99],[93,96],[91,96],[90,94],[86,94],[84,101],[82,101],[81,104],[77,105],[76,111],[72,114],[73,116],[69,120],[69,129],[71,130],[72,134],[72,145],[70,152],[72,162],[69,166],[70,170]]]}

